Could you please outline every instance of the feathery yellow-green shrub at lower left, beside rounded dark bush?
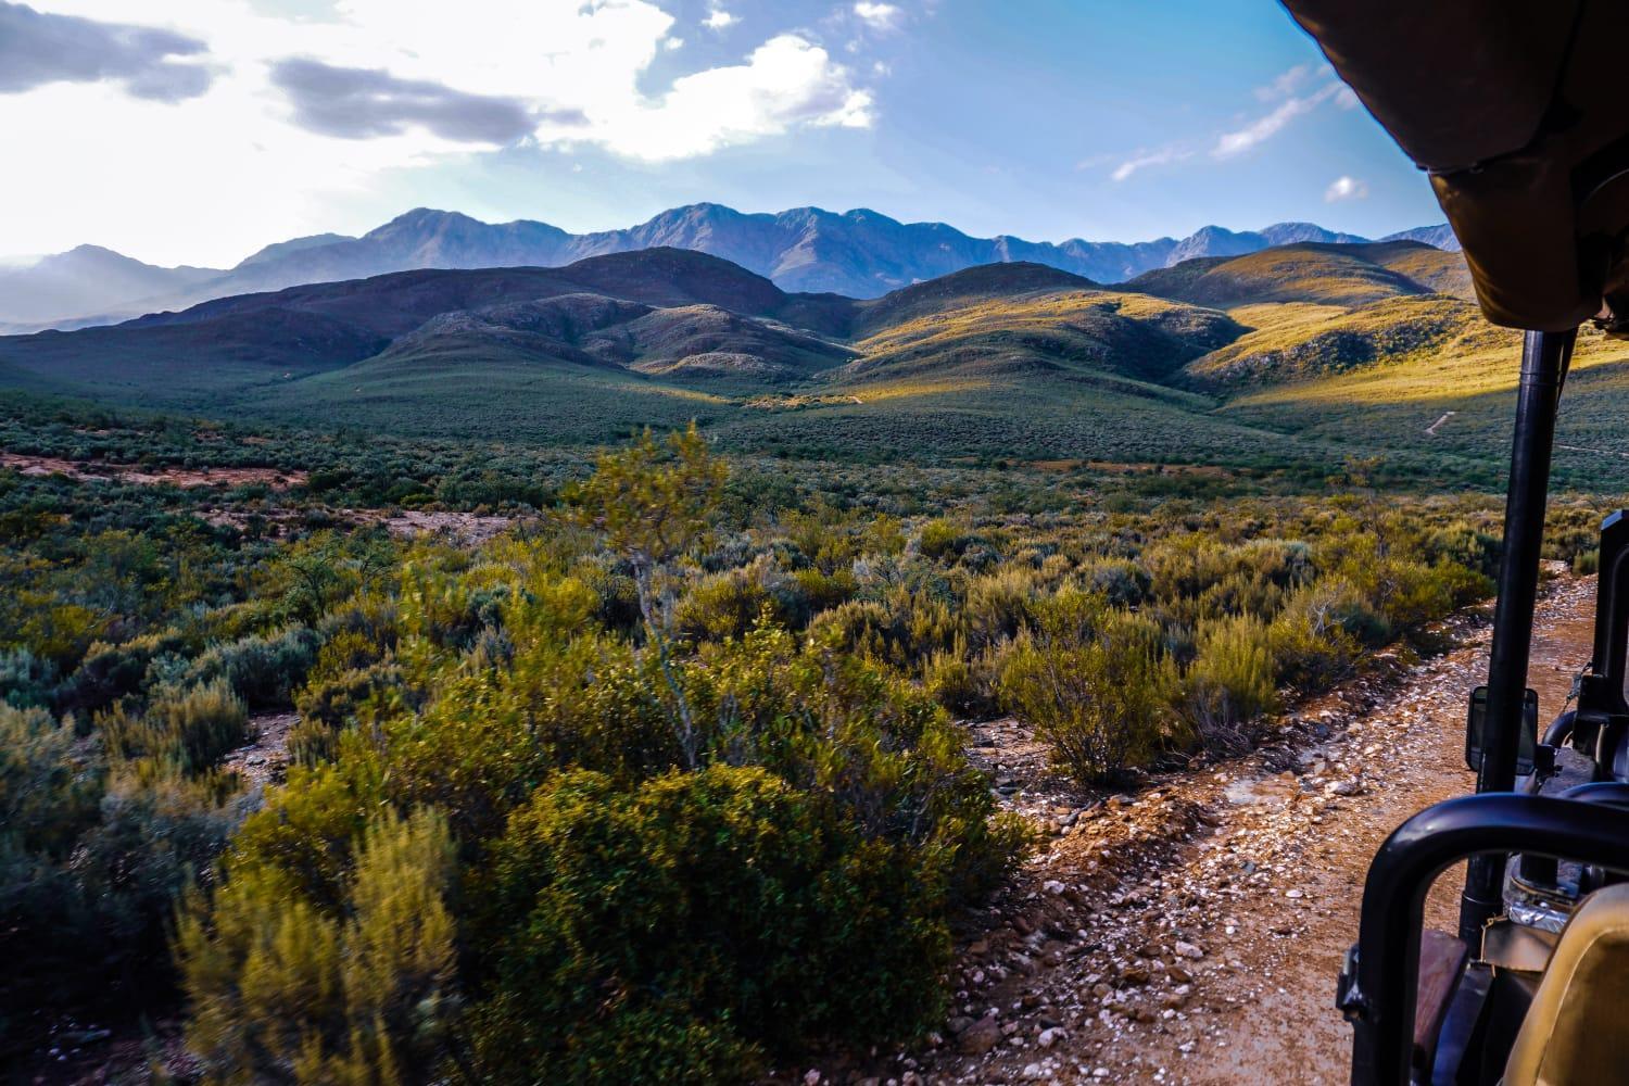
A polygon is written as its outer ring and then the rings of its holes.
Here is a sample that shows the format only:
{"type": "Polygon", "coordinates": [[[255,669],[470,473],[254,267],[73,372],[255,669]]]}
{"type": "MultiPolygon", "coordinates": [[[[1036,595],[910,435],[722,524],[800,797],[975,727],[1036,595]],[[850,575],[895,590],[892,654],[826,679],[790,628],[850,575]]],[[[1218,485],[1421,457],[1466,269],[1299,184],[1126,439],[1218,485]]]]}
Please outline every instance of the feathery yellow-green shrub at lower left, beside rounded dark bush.
{"type": "Polygon", "coordinates": [[[386,812],[368,824],[342,909],[252,865],[192,894],[176,952],[187,1045],[209,1081],[441,1079],[459,1008],[453,855],[438,816],[386,812]]]}

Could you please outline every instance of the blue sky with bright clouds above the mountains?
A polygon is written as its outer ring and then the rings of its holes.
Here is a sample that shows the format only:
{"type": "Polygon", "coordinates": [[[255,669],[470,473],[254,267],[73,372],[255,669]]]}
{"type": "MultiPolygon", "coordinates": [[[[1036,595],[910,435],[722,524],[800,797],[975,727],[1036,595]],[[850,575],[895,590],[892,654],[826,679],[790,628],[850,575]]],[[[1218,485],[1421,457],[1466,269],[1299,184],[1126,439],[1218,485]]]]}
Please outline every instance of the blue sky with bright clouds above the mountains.
{"type": "Polygon", "coordinates": [[[414,207],[1442,221],[1271,0],[0,0],[0,256],[210,267],[414,207]]]}

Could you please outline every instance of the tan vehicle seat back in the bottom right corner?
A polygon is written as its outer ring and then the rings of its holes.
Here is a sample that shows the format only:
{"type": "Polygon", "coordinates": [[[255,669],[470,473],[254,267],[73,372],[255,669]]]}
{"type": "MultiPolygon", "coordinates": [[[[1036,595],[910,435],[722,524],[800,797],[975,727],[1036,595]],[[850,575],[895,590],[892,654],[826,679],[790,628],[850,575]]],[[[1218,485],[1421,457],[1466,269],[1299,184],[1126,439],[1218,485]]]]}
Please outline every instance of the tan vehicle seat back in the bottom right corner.
{"type": "Polygon", "coordinates": [[[1629,1076],[1629,882],[1572,913],[1505,1062],[1504,1086],[1592,1086],[1629,1076]]]}

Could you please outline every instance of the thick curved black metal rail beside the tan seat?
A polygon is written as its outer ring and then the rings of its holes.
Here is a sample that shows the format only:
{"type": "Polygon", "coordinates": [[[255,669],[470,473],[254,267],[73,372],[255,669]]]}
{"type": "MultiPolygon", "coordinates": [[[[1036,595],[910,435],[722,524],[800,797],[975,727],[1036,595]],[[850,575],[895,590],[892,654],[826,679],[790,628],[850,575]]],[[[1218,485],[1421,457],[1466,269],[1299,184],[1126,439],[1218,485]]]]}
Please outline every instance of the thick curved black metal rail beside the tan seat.
{"type": "Polygon", "coordinates": [[[1341,1000],[1354,1027],[1354,1086],[1409,1081],[1420,915],[1432,879],[1450,865],[1466,856],[1531,852],[1629,869],[1629,811],[1590,798],[1621,796],[1461,796],[1420,811],[1386,839],[1363,882],[1355,983],[1344,988],[1341,1000]]]}

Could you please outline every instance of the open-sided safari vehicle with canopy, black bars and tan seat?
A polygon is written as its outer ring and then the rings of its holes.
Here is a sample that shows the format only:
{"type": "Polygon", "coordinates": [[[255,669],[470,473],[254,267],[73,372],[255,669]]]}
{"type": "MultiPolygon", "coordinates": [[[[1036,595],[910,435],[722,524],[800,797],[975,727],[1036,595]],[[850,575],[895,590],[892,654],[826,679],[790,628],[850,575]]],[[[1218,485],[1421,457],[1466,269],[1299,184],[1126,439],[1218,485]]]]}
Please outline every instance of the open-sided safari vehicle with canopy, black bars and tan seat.
{"type": "Polygon", "coordinates": [[[1486,317],[1526,331],[1492,656],[1468,713],[1478,795],[1420,811],[1370,865],[1337,987],[1352,1083],[1629,1083],[1629,513],[1601,529],[1577,708],[1539,736],[1526,689],[1572,345],[1583,321],[1629,332],[1629,5],[1284,3],[1430,176],[1486,317]],[[1432,881],[1461,860],[1458,933],[1422,933],[1432,881]]]}

